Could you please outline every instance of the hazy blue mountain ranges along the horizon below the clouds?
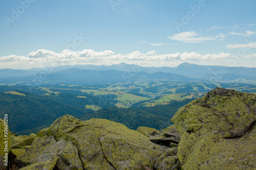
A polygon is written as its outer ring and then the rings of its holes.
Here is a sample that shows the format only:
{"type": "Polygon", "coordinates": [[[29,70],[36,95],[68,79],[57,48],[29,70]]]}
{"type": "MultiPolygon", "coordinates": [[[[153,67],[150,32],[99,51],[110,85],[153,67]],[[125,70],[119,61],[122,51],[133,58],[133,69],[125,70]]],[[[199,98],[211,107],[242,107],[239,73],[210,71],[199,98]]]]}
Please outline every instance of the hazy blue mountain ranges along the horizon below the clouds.
{"type": "Polygon", "coordinates": [[[65,65],[45,68],[0,69],[0,84],[104,84],[136,81],[222,82],[255,84],[256,68],[182,63],[177,67],[65,65]]]}

